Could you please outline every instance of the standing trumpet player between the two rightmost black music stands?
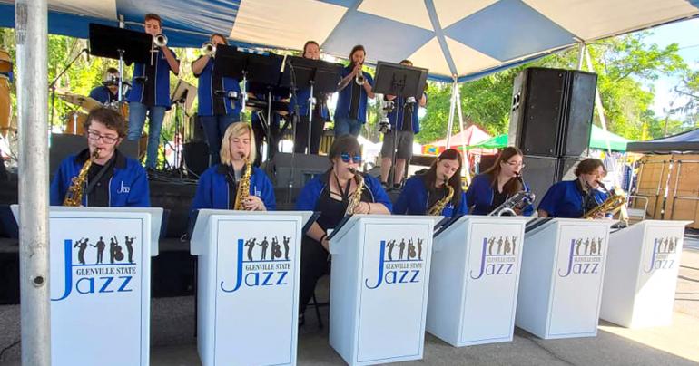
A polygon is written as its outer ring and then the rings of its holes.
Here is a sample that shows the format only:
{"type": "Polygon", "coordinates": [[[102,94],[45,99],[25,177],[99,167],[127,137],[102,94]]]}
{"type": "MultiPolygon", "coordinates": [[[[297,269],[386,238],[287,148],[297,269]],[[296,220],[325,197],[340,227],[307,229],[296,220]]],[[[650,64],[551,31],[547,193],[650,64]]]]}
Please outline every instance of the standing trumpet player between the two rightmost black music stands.
{"type": "Polygon", "coordinates": [[[374,79],[361,70],[367,53],[363,45],[356,45],[350,52],[350,64],[342,72],[338,85],[338,104],[335,108],[335,137],[359,136],[361,126],[367,122],[367,101],[374,98],[371,85],[374,79]]]}

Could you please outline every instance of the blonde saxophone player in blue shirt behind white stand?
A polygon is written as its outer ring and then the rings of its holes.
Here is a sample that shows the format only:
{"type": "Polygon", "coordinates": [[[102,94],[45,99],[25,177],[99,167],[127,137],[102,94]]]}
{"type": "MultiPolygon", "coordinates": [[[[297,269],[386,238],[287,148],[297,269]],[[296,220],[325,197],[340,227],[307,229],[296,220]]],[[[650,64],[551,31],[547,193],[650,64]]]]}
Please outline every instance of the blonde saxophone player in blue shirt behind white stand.
{"type": "Polygon", "coordinates": [[[201,208],[234,209],[239,184],[250,186],[250,194],[240,203],[243,210],[274,210],[276,201],[270,178],[262,169],[249,167],[255,153],[251,126],[247,123],[228,126],[221,143],[221,163],[202,173],[191,212],[201,208]],[[251,171],[250,177],[245,177],[246,170],[251,171]]]}

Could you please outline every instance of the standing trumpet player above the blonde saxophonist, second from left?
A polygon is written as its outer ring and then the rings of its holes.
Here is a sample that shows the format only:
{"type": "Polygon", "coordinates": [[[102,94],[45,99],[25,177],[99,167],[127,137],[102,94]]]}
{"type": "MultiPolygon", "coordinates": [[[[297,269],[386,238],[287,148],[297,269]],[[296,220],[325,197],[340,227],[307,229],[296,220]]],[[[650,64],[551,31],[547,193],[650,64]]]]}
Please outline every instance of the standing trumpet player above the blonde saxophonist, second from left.
{"type": "Polygon", "coordinates": [[[197,114],[209,145],[209,165],[218,164],[221,140],[228,126],[241,120],[241,86],[237,79],[222,77],[214,70],[216,47],[227,45],[222,34],[212,34],[202,46],[202,55],[192,63],[192,72],[199,79],[197,114]]]}

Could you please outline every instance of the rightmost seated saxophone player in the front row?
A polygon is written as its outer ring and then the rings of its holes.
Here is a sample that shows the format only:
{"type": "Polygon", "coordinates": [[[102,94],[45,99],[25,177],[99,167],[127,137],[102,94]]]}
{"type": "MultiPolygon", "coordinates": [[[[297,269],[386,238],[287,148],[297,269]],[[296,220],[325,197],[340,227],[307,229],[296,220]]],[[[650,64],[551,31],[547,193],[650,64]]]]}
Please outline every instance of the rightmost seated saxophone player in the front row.
{"type": "MultiPolygon", "coordinates": [[[[580,161],[575,174],[575,180],[564,180],[548,188],[537,207],[539,217],[579,218],[605,202],[608,196],[599,189],[599,180],[606,175],[602,160],[580,161]]],[[[600,212],[595,218],[603,217],[605,214],[600,212]]]]}

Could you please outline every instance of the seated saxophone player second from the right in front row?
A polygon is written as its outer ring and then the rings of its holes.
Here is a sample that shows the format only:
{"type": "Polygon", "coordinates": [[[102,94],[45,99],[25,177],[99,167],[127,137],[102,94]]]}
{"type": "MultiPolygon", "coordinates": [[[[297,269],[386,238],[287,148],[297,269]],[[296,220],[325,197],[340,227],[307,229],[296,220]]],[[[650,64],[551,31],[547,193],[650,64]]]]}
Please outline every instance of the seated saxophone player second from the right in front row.
{"type": "MultiPolygon", "coordinates": [[[[500,151],[492,167],[473,178],[466,192],[471,215],[487,215],[517,192],[529,191],[527,184],[521,180],[525,167],[523,157],[520,149],[507,147],[500,151]]],[[[517,215],[531,216],[534,207],[527,204],[515,208],[515,212],[517,215]]]]}

